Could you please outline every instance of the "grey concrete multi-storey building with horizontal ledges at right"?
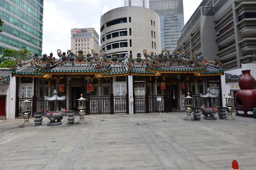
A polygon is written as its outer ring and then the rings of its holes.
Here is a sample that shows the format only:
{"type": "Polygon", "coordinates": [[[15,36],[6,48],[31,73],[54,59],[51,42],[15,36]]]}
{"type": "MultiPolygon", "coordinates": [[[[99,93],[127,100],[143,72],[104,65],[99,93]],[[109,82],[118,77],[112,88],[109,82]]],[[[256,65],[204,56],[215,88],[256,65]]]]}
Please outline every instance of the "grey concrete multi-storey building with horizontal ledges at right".
{"type": "Polygon", "coordinates": [[[219,56],[227,70],[241,68],[256,54],[255,21],[256,2],[203,0],[182,28],[175,51],[209,60],[219,56]]]}

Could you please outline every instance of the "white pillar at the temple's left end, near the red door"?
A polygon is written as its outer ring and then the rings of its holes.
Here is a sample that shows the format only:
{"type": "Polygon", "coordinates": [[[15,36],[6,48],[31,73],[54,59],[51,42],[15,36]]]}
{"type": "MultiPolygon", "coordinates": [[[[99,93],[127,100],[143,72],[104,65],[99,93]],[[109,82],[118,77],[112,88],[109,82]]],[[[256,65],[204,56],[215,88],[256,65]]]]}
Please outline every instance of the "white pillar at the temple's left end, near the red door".
{"type": "Polygon", "coordinates": [[[16,106],[16,77],[10,77],[10,84],[7,89],[6,96],[6,119],[15,119],[15,106],[16,106]]]}

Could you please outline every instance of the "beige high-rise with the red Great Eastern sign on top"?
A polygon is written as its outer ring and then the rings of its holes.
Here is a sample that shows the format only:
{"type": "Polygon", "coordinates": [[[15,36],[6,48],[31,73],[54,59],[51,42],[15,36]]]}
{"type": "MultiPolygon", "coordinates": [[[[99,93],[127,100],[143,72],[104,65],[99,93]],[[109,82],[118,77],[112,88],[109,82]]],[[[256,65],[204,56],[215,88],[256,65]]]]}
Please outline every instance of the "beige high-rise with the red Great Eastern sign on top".
{"type": "Polygon", "coordinates": [[[78,50],[84,51],[84,54],[91,53],[91,49],[100,53],[99,35],[94,28],[71,29],[71,49],[74,54],[77,54],[78,50]]]}

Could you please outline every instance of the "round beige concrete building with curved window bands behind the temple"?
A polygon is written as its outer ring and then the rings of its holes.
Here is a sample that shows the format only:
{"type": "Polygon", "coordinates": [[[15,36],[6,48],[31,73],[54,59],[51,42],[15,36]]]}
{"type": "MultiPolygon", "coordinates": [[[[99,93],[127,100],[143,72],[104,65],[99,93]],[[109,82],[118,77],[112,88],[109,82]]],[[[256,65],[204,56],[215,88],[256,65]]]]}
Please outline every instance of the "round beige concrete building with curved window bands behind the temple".
{"type": "Polygon", "coordinates": [[[100,50],[108,55],[161,52],[160,18],[148,8],[126,6],[112,9],[100,18],[100,50]]]}

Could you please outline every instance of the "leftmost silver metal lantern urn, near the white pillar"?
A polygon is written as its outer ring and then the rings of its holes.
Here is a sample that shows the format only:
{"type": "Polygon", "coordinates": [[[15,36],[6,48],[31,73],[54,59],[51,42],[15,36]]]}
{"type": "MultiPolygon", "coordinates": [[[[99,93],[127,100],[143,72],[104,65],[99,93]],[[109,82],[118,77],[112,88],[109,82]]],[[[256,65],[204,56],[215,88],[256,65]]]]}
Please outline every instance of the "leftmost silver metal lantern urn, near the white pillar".
{"type": "Polygon", "coordinates": [[[24,118],[24,123],[21,125],[21,127],[30,127],[33,126],[33,124],[29,123],[29,117],[31,116],[31,101],[28,100],[28,97],[25,97],[25,100],[21,102],[22,103],[22,117],[24,118]]]}

